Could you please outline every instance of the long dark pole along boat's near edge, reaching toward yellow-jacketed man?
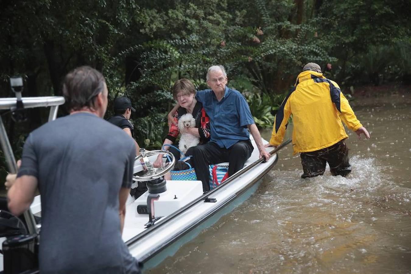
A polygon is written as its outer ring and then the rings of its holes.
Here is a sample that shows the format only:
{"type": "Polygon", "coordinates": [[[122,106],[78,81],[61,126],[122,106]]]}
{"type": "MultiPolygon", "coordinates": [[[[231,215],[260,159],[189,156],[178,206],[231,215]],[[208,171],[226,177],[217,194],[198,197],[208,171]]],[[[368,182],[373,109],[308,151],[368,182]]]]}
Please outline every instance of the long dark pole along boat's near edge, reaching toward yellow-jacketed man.
{"type": "MultiPolygon", "coordinates": [[[[289,138],[288,140],[286,140],[284,143],[282,143],[281,145],[277,146],[274,150],[271,150],[269,153],[270,155],[273,155],[275,153],[277,153],[279,150],[281,150],[283,147],[285,147],[286,145],[288,145],[289,143],[291,143],[291,138],[289,138]]],[[[214,192],[216,192],[220,187],[222,186],[226,186],[227,184],[233,182],[234,179],[236,179],[237,177],[239,177],[240,175],[242,175],[243,173],[247,172],[248,170],[250,170],[251,168],[253,168],[254,166],[258,165],[261,162],[265,162],[264,158],[258,159],[257,161],[255,161],[254,163],[250,164],[249,166],[247,166],[244,169],[238,170],[236,173],[234,173],[232,176],[230,176],[227,180],[224,181],[224,184],[219,184],[217,187],[215,187],[214,189],[204,193],[202,196],[200,196],[199,198],[193,200],[192,202],[188,203],[187,205],[185,205],[184,207],[180,208],[179,210],[173,212],[172,214],[170,214],[169,216],[166,216],[164,219],[162,219],[162,221],[160,223],[157,223],[153,226],[150,226],[149,228],[145,229],[143,232],[139,233],[138,235],[134,236],[133,238],[129,239],[127,242],[125,242],[125,244],[127,246],[130,246],[132,244],[134,244],[135,242],[137,242],[139,239],[145,237],[145,235],[147,235],[148,233],[151,233],[153,230],[156,230],[157,228],[163,226],[164,224],[167,223],[167,221],[173,219],[174,217],[182,214],[183,212],[185,212],[186,210],[188,210],[190,207],[192,207],[193,205],[195,205],[196,203],[199,203],[205,199],[208,198],[208,196],[210,196],[211,194],[213,194],[214,192]]]]}

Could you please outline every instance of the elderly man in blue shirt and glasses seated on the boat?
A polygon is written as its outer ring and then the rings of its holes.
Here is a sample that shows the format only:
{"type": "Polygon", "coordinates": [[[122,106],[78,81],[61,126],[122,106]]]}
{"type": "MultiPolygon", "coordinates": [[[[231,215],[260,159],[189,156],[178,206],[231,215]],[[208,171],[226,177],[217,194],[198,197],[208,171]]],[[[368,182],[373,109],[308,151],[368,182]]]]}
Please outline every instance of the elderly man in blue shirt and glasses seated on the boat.
{"type": "Polygon", "coordinates": [[[197,178],[203,182],[203,191],[210,190],[208,165],[229,162],[229,176],[243,168],[254,150],[247,128],[254,137],[260,158],[270,158],[244,96],[226,86],[228,78],[224,67],[210,67],[206,80],[211,89],[198,91],[196,99],[203,103],[210,117],[211,138],[208,143],[194,147],[192,159],[197,178]]]}

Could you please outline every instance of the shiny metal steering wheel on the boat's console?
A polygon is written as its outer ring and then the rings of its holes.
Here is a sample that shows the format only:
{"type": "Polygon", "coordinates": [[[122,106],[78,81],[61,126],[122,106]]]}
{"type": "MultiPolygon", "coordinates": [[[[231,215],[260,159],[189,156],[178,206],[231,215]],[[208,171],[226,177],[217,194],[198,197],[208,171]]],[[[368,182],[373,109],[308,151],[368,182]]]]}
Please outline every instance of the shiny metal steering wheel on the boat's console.
{"type": "Polygon", "coordinates": [[[136,181],[143,181],[143,182],[151,181],[159,177],[162,177],[166,173],[168,173],[174,167],[174,164],[175,164],[175,158],[174,158],[173,153],[169,151],[165,151],[165,150],[151,150],[149,152],[145,152],[144,148],[140,148],[140,155],[137,156],[136,159],[134,159],[134,161],[141,161],[141,159],[143,159],[144,166],[145,168],[147,168],[147,171],[142,175],[138,175],[137,173],[134,173],[133,179],[136,181]],[[158,154],[166,154],[168,156],[167,158],[171,159],[171,161],[166,163],[164,167],[161,167],[161,168],[153,167],[148,157],[158,156],[158,154]]]}

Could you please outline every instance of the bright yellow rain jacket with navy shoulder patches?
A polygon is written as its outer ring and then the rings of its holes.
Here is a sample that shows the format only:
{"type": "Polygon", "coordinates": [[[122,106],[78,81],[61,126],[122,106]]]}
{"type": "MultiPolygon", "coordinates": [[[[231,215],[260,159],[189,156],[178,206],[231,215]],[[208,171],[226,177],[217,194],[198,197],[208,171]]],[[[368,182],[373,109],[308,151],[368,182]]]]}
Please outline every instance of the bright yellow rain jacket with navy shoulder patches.
{"type": "Polygon", "coordinates": [[[293,154],[320,150],[347,138],[341,120],[352,131],[363,126],[337,83],[310,70],[298,75],[275,115],[271,145],[282,143],[290,115],[294,124],[293,154]]]}

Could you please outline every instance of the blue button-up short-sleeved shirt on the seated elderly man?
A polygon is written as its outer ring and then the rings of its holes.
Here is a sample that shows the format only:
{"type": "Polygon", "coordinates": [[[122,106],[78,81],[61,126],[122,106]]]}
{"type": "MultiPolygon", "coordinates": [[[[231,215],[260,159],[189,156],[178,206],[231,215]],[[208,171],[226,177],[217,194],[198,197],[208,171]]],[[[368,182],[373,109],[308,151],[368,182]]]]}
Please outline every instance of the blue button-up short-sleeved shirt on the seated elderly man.
{"type": "Polygon", "coordinates": [[[229,148],[239,140],[249,139],[247,125],[254,124],[254,119],[240,92],[226,86],[224,97],[218,101],[212,90],[200,90],[196,99],[210,117],[210,142],[229,148]]]}

